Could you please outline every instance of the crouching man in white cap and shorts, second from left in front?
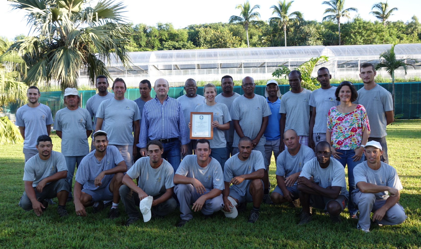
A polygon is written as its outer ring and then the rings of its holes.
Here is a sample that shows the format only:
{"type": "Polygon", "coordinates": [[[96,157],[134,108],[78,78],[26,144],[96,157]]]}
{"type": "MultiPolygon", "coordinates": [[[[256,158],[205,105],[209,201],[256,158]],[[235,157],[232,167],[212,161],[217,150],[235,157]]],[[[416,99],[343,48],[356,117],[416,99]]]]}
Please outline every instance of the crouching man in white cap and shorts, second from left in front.
{"type": "Polygon", "coordinates": [[[98,130],[93,133],[93,146],[96,149],[82,159],[77,169],[73,202],[79,216],[86,216],[85,207],[93,206],[93,213],[101,211],[103,201],[110,200],[112,207],[108,217],[114,219],[119,216],[118,189],[123,185],[121,180],[127,167],[117,147],[107,145],[107,132],[98,130]]]}

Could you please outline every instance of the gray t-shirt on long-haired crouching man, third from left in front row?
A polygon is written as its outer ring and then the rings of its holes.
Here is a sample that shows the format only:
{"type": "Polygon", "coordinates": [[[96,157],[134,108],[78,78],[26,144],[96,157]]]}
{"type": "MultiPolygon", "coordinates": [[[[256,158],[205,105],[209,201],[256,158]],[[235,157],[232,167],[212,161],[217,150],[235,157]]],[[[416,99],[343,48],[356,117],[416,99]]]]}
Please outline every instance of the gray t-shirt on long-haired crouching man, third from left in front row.
{"type": "Polygon", "coordinates": [[[154,169],[149,162],[149,156],[142,157],[127,171],[127,175],[132,179],[139,177],[139,188],[148,196],[163,194],[167,188],[174,187],[174,170],[165,159],[160,167],[154,169]]]}

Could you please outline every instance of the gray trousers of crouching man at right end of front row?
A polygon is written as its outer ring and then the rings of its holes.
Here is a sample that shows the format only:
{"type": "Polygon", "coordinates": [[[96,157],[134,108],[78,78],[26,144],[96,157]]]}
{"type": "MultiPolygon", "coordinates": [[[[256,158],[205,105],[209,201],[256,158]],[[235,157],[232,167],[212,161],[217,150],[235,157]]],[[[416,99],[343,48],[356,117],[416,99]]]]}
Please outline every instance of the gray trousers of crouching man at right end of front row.
{"type": "MultiPolygon", "coordinates": [[[[383,207],[386,199],[376,199],[373,193],[362,193],[360,191],[352,193],[352,200],[355,206],[360,210],[360,219],[358,220],[358,228],[370,229],[370,213],[376,212],[377,209],[383,207]]],[[[382,220],[376,220],[380,225],[397,225],[401,224],[406,219],[403,207],[397,203],[389,208],[384,214],[382,220]]]]}

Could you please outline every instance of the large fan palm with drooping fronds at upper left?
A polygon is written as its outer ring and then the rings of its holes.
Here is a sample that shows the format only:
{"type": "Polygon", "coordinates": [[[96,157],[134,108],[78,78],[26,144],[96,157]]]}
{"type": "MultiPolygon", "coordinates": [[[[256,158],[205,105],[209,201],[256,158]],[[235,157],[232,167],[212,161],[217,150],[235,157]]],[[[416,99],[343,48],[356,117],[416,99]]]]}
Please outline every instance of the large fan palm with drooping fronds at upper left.
{"type": "Polygon", "coordinates": [[[130,67],[129,25],[123,3],[100,0],[10,0],[13,9],[27,11],[28,25],[37,35],[11,45],[29,66],[28,85],[59,83],[61,89],[77,87],[80,70],[92,85],[97,75],[110,76],[103,61],[112,56],[130,67]]]}

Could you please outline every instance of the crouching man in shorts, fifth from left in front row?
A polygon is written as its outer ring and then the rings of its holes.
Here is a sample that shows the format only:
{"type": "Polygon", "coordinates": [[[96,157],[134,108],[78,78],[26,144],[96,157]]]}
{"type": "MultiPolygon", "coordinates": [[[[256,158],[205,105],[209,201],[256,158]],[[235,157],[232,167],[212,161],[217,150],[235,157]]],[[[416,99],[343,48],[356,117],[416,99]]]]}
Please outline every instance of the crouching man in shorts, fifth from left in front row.
{"type": "Polygon", "coordinates": [[[240,152],[225,162],[224,212],[226,217],[235,218],[237,207],[240,212],[245,211],[247,202],[253,202],[248,222],[254,223],[259,217],[260,204],[263,199],[263,181],[261,179],[264,177],[266,166],[261,152],[252,151],[253,145],[249,137],[240,138],[238,149],[240,152]]]}

